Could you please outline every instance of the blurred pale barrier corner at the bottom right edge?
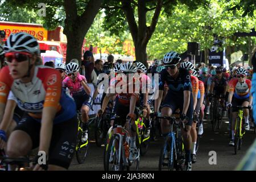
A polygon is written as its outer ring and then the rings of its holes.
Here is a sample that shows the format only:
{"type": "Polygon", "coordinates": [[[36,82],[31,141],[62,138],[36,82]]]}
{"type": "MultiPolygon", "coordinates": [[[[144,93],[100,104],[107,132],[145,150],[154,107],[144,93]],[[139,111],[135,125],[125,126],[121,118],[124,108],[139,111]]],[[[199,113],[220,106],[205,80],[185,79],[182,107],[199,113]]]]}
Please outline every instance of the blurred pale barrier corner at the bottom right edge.
{"type": "Polygon", "coordinates": [[[235,170],[256,171],[256,139],[235,170]]]}

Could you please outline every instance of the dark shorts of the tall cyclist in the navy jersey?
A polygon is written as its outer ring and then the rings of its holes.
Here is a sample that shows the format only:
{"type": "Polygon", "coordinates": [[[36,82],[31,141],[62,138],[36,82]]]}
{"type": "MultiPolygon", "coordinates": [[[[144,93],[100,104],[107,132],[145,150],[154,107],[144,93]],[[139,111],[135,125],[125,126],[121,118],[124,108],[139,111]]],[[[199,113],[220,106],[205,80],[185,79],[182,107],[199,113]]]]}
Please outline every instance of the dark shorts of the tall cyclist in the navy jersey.
{"type": "MultiPolygon", "coordinates": [[[[183,103],[184,103],[184,98],[183,96],[174,96],[170,92],[167,93],[166,98],[163,101],[162,107],[170,107],[172,110],[172,113],[174,113],[175,110],[180,109],[180,112],[182,113],[183,110],[183,103]]],[[[193,96],[192,92],[190,95],[190,102],[188,106],[188,111],[187,111],[187,117],[189,118],[188,122],[186,125],[191,126],[193,122],[193,96]]]]}

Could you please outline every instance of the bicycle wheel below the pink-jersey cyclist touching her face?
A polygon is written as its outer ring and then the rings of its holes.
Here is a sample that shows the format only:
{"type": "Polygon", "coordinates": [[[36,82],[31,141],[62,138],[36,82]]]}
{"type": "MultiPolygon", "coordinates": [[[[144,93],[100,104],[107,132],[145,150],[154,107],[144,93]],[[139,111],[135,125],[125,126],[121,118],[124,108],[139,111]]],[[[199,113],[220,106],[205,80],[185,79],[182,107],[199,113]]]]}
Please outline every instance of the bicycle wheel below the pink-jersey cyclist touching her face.
{"type": "Polygon", "coordinates": [[[76,159],[79,164],[84,163],[88,148],[89,148],[89,141],[86,140],[86,143],[83,143],[82,140],[82,131],[79,130],[79,134],[77,135],[77,146],[76,146],[76,159]]]}

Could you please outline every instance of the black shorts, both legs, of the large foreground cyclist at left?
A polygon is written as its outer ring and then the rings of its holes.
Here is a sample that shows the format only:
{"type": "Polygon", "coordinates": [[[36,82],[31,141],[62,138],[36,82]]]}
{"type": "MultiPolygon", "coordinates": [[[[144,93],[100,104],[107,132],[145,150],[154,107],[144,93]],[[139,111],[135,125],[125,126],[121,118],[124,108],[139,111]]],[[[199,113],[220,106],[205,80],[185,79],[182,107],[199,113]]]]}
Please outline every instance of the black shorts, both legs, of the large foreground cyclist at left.
{"type": "MultiPolygon", "coordinates": [[[[77,127],[77,116],[53,125],[48,164],[68,169],[76,147],[77,127]]],[[[14,130],[27,133],[32,140],[32,149],[34,149],[39,146],[40,128],[41,123],[26,113],[14,130]]]]}

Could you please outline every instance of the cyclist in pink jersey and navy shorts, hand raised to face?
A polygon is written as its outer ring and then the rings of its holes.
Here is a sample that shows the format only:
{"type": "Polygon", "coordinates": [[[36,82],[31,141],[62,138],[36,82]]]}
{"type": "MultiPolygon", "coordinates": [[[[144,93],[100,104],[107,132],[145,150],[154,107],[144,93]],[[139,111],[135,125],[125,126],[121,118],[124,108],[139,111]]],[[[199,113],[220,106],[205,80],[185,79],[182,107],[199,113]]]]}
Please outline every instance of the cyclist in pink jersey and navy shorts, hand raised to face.
{"type": "Polygon", "coordinates": [[[90,96],[90,87],[87,85],[87,80],[79,73],[79,65],[76,63],[69,63],[66,66],[68,77],[66,77],[62,84],[71,92],[71,96],[76,102],[76,109],[81,109],[82,114],[82,142],[88,139],[88,121],[89,111],[92,106],[92,97],[90,96]]]}

